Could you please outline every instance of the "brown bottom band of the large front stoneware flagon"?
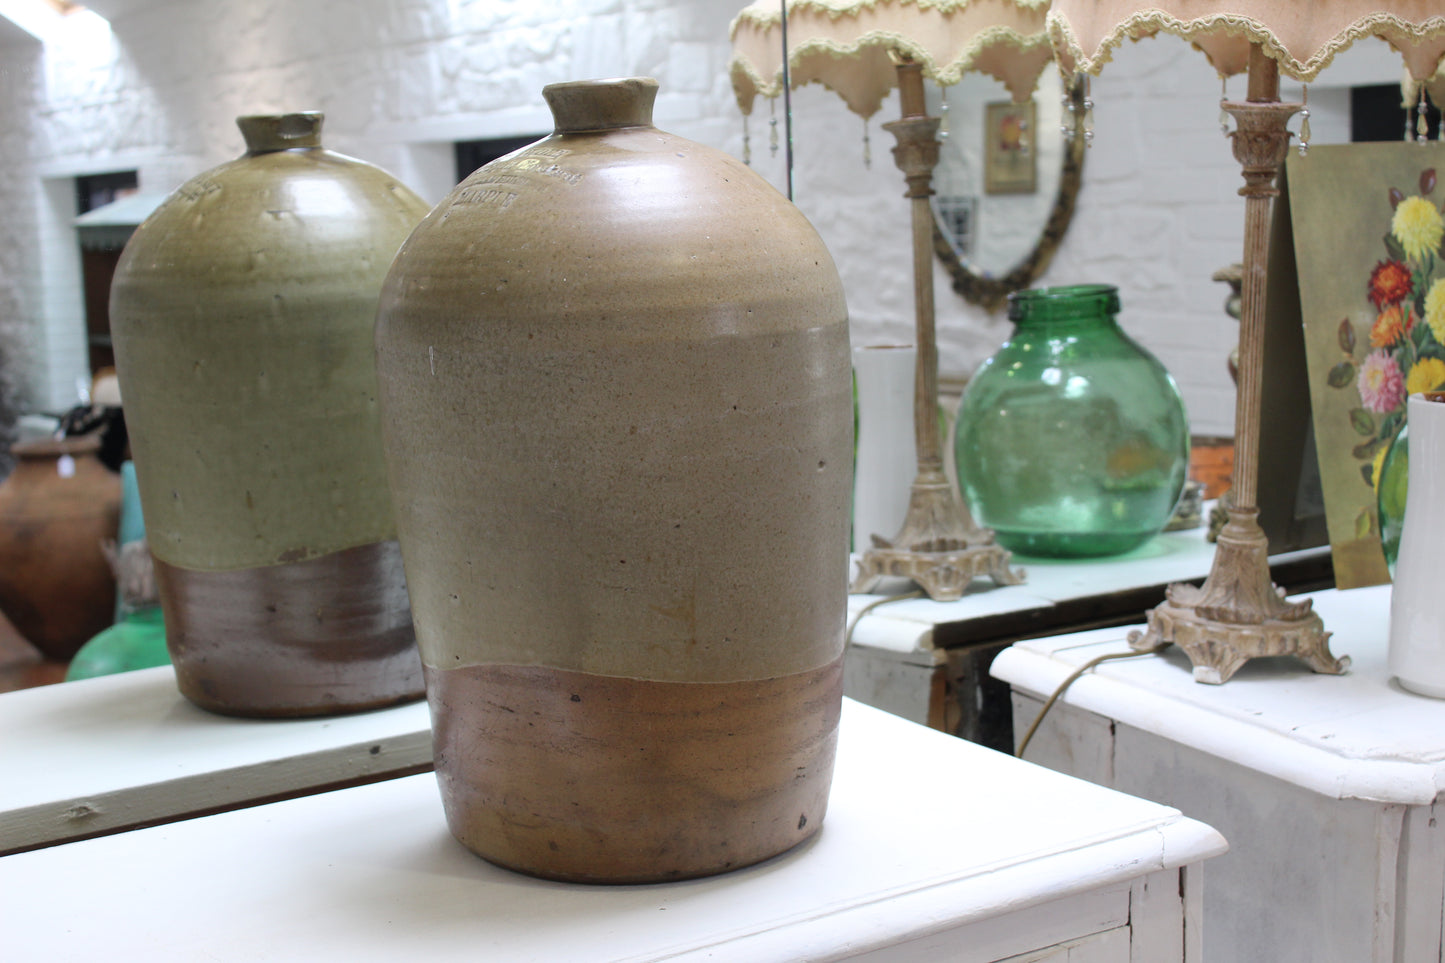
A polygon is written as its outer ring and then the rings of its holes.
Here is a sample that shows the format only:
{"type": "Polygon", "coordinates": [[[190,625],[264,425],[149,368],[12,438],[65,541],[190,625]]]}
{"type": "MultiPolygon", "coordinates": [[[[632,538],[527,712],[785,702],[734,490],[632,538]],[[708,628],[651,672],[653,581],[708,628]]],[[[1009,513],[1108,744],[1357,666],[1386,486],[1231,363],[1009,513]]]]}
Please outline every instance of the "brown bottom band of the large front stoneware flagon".
{"type": "Polygon", "coordinates": [[[428,667],[426,691],[447,821],[509,869],[707,876],[796,846],[828,808],[841,659],[756,682],[428,667]]]}

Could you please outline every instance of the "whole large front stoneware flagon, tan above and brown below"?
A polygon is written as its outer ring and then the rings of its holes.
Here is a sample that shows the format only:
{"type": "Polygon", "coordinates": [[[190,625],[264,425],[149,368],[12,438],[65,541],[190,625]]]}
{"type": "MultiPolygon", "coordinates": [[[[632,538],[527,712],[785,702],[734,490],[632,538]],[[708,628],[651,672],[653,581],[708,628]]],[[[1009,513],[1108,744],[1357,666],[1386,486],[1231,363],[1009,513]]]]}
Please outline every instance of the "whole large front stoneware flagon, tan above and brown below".
{"type": "Polygon", "coordinates": [[[545,91],[377,318],[387,464],[452,833],[572,881],[679,879],[822,823],[841,706],[847,309],[812,226],[652,126],[545,91]]]}

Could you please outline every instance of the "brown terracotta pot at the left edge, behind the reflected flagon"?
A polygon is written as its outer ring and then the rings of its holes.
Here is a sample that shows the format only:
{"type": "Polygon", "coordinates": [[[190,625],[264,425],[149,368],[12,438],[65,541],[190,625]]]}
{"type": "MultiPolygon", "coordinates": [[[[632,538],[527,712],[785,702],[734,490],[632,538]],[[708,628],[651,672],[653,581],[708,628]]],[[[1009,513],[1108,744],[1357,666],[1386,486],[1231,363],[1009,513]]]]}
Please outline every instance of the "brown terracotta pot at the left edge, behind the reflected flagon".
{"type": "Polygon", "coordinates": [[[116,615],[101,542],[120,526],[120,476],[95,437],[14,445],[0,486],[0,612],[49,659],[68,661],[116,615]]]}

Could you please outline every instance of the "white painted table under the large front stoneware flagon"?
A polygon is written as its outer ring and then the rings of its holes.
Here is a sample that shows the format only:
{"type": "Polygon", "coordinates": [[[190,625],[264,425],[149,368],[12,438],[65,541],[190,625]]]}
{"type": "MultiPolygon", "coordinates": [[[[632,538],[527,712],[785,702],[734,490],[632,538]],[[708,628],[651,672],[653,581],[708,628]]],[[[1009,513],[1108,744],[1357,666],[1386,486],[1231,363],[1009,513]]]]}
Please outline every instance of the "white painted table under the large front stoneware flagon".
{"type": "MultiPolygon", "coordinates": [[[[0,859],[7,962],[1198,959],[1178,811],[845,701],[814,840],[724,876],[512,873],[407,776],[0,859]]],[[[1207,938],[1207,937],[1205,937],[1207,938]]]]}

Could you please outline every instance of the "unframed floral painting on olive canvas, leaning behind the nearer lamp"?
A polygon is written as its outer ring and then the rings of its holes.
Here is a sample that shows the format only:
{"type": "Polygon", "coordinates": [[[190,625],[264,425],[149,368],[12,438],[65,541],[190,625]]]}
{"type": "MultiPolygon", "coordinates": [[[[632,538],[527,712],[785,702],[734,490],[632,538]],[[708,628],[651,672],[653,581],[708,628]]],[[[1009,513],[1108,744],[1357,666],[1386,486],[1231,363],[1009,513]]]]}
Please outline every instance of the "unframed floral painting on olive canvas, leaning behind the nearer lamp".
{"type": "Polygon", "coordinates": [[[1405,399],[1445,386],[1445,149],[1315,147],[1287,165],[1311,403],[1341,587],[1389,578],[1376,487],[1405,399]]]}

